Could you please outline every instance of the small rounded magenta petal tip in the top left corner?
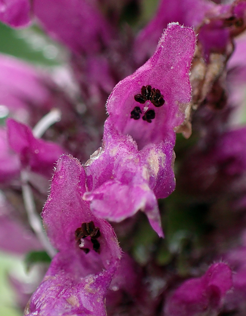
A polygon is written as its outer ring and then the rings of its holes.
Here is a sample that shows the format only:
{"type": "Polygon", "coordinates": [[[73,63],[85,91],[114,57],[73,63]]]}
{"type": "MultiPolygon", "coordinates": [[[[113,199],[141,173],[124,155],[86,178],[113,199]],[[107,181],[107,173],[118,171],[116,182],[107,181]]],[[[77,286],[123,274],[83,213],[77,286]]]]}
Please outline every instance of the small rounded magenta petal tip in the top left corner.
{"type": "Polygon", "coordinates": [[[0,20],[12,27],[26,26],[30,22],[29,0],[2,0],[0,20]]]}

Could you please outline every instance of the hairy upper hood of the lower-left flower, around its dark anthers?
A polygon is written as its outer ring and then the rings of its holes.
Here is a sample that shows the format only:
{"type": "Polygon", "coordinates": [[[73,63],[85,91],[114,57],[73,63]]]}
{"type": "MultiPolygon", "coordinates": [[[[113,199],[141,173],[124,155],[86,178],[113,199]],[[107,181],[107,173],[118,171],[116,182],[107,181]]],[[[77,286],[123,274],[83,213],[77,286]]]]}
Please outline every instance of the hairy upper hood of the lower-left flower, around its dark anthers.
{"type": "MultiPolygon", "coordinates": [[[[74,248],[81,253],[75,242],[75,230],[83,222],[93,221],[103,235],[99,239],[101,239],[100,256],[105,257],[104,263],[112,256],[114,259],[118,258],[120,248],[113,229],[109,223],[97,219],[91,214],[89,204],[82,200],[84,192],[84,168],[77,159],[63,155],[57,163],[52,179],[51,193],[42,212],[48,237],[59,251],[74,248]]],[[[87,257],[90,255],[91,252],[87,254],[87,257]]],[[[105,265],[108,264],[105,263],[105,265]]]]}

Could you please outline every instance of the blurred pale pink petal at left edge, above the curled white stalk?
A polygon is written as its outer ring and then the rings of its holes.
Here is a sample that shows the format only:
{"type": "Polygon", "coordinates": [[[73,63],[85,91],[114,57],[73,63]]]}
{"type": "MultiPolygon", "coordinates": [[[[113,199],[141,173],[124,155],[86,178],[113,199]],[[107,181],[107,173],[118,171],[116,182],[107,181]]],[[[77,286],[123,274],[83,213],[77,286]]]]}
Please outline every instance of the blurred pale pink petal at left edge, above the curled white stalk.
{"type": "Polygon", "coordinates": [[[30,105],[47,111],[51,103],[54,106],[53,95],[45,80],[46,77],[34,67],[0,54],[0,103],[8,107],[10,116],[27,122],[30,105]]]}

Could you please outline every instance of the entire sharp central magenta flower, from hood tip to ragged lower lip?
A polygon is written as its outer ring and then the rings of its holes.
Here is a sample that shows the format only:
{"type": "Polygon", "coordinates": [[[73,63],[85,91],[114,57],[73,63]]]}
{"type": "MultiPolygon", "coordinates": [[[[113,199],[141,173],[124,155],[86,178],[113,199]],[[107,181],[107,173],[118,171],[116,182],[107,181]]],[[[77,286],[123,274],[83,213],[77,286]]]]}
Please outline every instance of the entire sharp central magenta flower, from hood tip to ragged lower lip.
{"type": "Polygon", "coordinates": [[[195,43],[191,28],[170,23],[154,55],[110,94],[103,148],[86,164],[89,192],[83,198],[96,216],[119,222],[142,210],[163,236],[157,198],[175,188],[174,128],[185,119],[191,99],[188,73],[195,43]],[[136,101],[148,85],[149,91],[155,89],[151,93],[160,90],[164,104],[155,106],[149,96],[144,104],[136,101]],[[131,115],[136,106],[142,109],[139,119],[131,115]],[[148,111],[155,112],[150,121],[144,119],[148,111]]]}

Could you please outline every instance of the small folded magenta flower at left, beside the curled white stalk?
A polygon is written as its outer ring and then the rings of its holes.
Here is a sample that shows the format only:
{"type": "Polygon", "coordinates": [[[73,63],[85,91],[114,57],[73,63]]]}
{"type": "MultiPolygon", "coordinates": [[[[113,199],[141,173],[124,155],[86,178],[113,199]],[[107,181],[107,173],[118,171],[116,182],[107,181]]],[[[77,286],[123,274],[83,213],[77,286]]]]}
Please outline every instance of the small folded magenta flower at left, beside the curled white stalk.
{"type": "Polygon", "coordinates": [[[22,166],[50,177],[64,150],[55,143],[36,139],[27,125],[13,119],[7,120],[7,127],[9,145],[19,155],[22,166]]]}

